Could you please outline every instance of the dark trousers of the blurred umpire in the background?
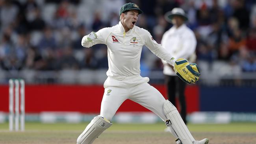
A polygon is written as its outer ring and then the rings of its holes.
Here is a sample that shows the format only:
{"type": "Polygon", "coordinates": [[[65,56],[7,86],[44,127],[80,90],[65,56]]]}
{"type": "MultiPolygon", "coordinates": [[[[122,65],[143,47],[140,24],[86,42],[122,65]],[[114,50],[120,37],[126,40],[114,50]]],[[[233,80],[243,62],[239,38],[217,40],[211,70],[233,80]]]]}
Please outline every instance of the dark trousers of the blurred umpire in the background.
{"type": "Polygon", "coordinates": [[[165,84],[167,86],[167,94],[168,99],[175,107],[177,107],[176,103],[176,95],[178,96],[178,100],[180,102],[180,115],[187,124],[186,116],[187,116],[187,107],[186,107],[186,99],[185,99],[185,87],[186,83],[182,81],[178,76],[167,76],[165,75],[165,84]]]}

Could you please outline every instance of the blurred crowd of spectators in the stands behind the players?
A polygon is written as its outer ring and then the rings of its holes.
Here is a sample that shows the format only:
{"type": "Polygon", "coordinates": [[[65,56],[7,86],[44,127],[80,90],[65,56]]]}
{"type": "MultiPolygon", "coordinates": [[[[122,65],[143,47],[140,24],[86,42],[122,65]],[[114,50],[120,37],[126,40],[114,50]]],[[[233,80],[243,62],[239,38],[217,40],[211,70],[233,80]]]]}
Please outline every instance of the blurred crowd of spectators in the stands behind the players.
{"type": "MultiPolygon", "coordinates": [[[[0,69],[108,68],[106,45],[83,48],[81,40],[118,24],[127,2],[143,10],[136,25],[158,43],[172,26],[164,14],[182,7],[197,37],[198,61],[256,72],[255,0],[0,0],[0,69]]],[[[161,60],[143,48],[141,69],[161,70],[161,60]]]]}

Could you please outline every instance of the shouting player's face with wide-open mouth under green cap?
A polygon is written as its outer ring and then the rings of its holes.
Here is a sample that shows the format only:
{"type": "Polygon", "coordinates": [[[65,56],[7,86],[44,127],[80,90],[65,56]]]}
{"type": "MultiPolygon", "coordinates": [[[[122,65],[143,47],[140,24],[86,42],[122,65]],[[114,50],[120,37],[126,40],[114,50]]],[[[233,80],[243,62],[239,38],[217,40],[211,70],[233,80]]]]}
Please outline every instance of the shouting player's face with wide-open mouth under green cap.
{"type": "Polygon", "coordinates": [[[122,18],[121,22],[126,32],[134,28],[135,23],[138,20],[138,17],[139,17],[138,10],[135,10],[135,9],[128,11],[126,15],[124,14],[124,18],[122,18]]]}

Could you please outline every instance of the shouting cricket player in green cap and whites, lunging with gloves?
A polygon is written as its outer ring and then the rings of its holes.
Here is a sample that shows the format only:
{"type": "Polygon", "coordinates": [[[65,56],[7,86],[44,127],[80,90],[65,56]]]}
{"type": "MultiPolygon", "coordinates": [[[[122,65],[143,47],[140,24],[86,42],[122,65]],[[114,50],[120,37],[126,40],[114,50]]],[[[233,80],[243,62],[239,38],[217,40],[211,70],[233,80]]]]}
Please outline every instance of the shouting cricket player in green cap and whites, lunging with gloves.
{"type": "Polygon", "coordinates": [[[186,59],[172,57],[158,44],[147,30],[135,26],[139,14],[137,4],[124,4],[120,9],[120,22],[111,28],[91,32],[82,39],[82,46],[95,44],[108,46],[108,78],[104,82],[100,115],[95,116],[77,144],[92,144],[104,130],[112,126],[111,119],[120,105],[127,99],[143,105],[156,113],[176,137],[177,144],[208,144],[208,139],[195,140],[184,124],[176,107],[165,100],[161,93],[148,84],[149,79],[140,76],[140,57],[143,45],[152,53],[174,66],[176,74],[187,83],[196,83],[200,73],[195,64],[186,59]]]}

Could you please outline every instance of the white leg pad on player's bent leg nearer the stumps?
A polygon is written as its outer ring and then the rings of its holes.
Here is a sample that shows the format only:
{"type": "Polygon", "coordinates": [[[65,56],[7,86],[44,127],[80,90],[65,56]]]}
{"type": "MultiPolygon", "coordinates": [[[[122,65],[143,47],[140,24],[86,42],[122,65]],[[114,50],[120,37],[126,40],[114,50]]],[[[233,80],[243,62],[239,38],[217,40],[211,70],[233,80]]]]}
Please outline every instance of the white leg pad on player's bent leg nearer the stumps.
{"type": "Polygon", "coordinates": [[[77,138],[77,144],[92,144],[103,131],[112,126],[108,120],[95,116],[83,133],[77,138]]]}

